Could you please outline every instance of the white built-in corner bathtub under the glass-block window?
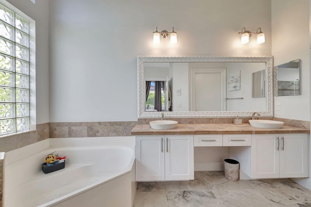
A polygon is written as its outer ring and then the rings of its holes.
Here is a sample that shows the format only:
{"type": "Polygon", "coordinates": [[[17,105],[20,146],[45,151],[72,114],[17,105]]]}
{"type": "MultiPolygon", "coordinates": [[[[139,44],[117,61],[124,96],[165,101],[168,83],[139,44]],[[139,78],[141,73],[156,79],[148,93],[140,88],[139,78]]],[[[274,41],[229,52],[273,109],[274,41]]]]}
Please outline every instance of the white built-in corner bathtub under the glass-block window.
{"type": "Polygon", "coordinates": [[[50,138],[4,155],[4,207],[131,207],[135,137],[50,138]],[[64,169],[43,173],[44,157],[66,155],[64,169]]]}

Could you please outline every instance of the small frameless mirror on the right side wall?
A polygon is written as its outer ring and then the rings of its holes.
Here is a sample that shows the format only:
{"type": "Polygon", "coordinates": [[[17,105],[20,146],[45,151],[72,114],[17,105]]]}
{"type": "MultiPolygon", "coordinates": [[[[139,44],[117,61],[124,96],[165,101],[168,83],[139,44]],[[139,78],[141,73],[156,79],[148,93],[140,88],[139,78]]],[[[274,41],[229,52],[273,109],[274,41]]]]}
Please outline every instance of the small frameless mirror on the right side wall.
{"type": "Polygon", "coordinates": [[[275,66],[275,96],[300,95],[300,59],[275,66]]]}

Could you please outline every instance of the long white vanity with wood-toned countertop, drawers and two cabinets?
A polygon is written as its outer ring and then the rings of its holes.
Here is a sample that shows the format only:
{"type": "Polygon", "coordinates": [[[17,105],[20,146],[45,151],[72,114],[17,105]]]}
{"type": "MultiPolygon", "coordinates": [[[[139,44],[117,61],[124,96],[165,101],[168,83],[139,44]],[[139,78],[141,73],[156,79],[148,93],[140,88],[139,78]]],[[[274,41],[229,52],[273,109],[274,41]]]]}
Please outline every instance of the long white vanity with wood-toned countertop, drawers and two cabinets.
{"type": "Polygon", "coordinates": [[[309,175],[309,129],[177,124],[174,129],[155,130],[138,124],[131,133],[136,136],[137,181],[193,179],[193,152],[199,147],[227,147],[228,157],[240,162],[240,179],[309,175]]]}

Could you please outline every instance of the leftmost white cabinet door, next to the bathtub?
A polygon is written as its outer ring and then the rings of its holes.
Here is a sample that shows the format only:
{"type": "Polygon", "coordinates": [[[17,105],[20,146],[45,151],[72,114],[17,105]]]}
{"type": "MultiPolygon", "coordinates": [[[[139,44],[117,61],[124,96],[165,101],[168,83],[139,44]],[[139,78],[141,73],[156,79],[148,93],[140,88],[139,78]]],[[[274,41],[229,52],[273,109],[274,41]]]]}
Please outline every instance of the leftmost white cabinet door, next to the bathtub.
{"type": "Polygon", "coordinates": [[[136,181],[165,180],[164,136],[136,136],[136,181]]]}

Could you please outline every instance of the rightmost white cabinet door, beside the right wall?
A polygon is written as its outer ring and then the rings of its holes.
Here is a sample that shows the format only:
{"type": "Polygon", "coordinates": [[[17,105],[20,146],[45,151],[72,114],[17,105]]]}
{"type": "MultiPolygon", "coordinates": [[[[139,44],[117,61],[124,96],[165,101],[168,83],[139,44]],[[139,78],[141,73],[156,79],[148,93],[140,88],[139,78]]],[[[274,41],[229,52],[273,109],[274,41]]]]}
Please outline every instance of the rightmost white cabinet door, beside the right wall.
{"type": "Polygon", "coordinates": [[[283,134],[280,138],[280,177],[308,177],[307,134],[283,134]]]}

